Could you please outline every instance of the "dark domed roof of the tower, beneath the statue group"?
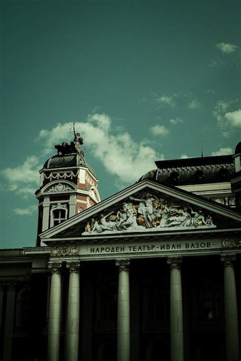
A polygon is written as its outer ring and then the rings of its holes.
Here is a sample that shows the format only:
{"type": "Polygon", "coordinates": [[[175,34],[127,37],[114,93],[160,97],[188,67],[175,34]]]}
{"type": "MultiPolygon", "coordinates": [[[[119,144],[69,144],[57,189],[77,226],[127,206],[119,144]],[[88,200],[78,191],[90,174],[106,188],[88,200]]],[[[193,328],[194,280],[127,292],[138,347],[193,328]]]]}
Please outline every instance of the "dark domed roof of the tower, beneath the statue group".
{"type": "Polygon", "coordinates": [[[89,166],[85,159],[78,153],[54,155],[44,163],[44,169],[53,168],[69,168],[69,167],[86,167],[91,173],[96,176],[94,169],[89,166]]]}

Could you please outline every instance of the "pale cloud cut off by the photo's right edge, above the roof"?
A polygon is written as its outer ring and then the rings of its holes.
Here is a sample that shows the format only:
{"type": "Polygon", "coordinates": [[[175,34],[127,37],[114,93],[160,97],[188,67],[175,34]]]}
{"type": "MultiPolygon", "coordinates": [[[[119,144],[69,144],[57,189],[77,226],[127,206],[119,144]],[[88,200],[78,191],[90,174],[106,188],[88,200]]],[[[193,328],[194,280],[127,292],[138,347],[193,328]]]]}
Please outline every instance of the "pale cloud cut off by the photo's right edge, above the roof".
{"type": "Polygon", "coordinates": [[[240,109],[227,112],[227,110],[237,103],[237,100],[221,100],[218,101],[213,110],[213,115],[216,117],[217,125],[221,130],[222,136],[229,138],[233,127],[239,127],[240,121],[240,109]]]}

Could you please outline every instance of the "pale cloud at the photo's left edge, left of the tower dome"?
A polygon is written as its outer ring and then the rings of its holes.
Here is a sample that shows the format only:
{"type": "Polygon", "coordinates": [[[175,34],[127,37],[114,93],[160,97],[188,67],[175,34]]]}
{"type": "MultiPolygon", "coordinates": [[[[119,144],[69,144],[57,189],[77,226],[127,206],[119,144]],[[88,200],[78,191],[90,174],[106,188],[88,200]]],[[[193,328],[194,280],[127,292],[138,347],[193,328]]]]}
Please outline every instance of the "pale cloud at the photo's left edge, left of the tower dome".
{"type": "MultiPolygon", "coordinates": [[[[15,191],[21,186],[22,190],[20,192],[24,193],[24,188],[28,188],[29,184],[39,185],[40,168],[39,158],[30,155],[22,165],[15,168],[5,168],[1,171],[1,174],[8,181],[9,190],[15,191]],[[24,188],[23,185],[25,185],[24,188]]],[[[25,192],[27,191],[25,190],[25,192]]]]}

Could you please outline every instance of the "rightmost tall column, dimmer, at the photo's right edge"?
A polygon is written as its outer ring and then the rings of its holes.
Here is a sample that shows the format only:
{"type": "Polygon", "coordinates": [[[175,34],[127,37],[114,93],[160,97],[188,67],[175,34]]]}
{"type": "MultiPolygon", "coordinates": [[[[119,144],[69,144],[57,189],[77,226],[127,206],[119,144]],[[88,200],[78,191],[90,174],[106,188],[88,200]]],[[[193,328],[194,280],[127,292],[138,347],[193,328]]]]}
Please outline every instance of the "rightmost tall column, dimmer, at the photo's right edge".
{"type": "Polygon", "coordinates": [[[224,262],[226,360],[239,361],[237,298],[233,267],[235,254],[222,255],[221,261],[224,262]]]}

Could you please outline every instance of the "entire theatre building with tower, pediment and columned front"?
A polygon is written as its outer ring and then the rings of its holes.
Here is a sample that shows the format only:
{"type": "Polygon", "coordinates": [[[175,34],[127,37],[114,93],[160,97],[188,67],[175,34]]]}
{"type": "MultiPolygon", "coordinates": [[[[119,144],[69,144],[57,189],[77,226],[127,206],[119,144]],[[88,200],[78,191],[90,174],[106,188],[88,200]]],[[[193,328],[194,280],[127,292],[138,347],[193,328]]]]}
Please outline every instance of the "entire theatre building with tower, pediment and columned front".
{"type": "Polygon", "coordinates": [[[0,253],[0,359],[239,361],[240,143],[100,201],[81,142],[40,171],[36,247],[0,253]]]}

